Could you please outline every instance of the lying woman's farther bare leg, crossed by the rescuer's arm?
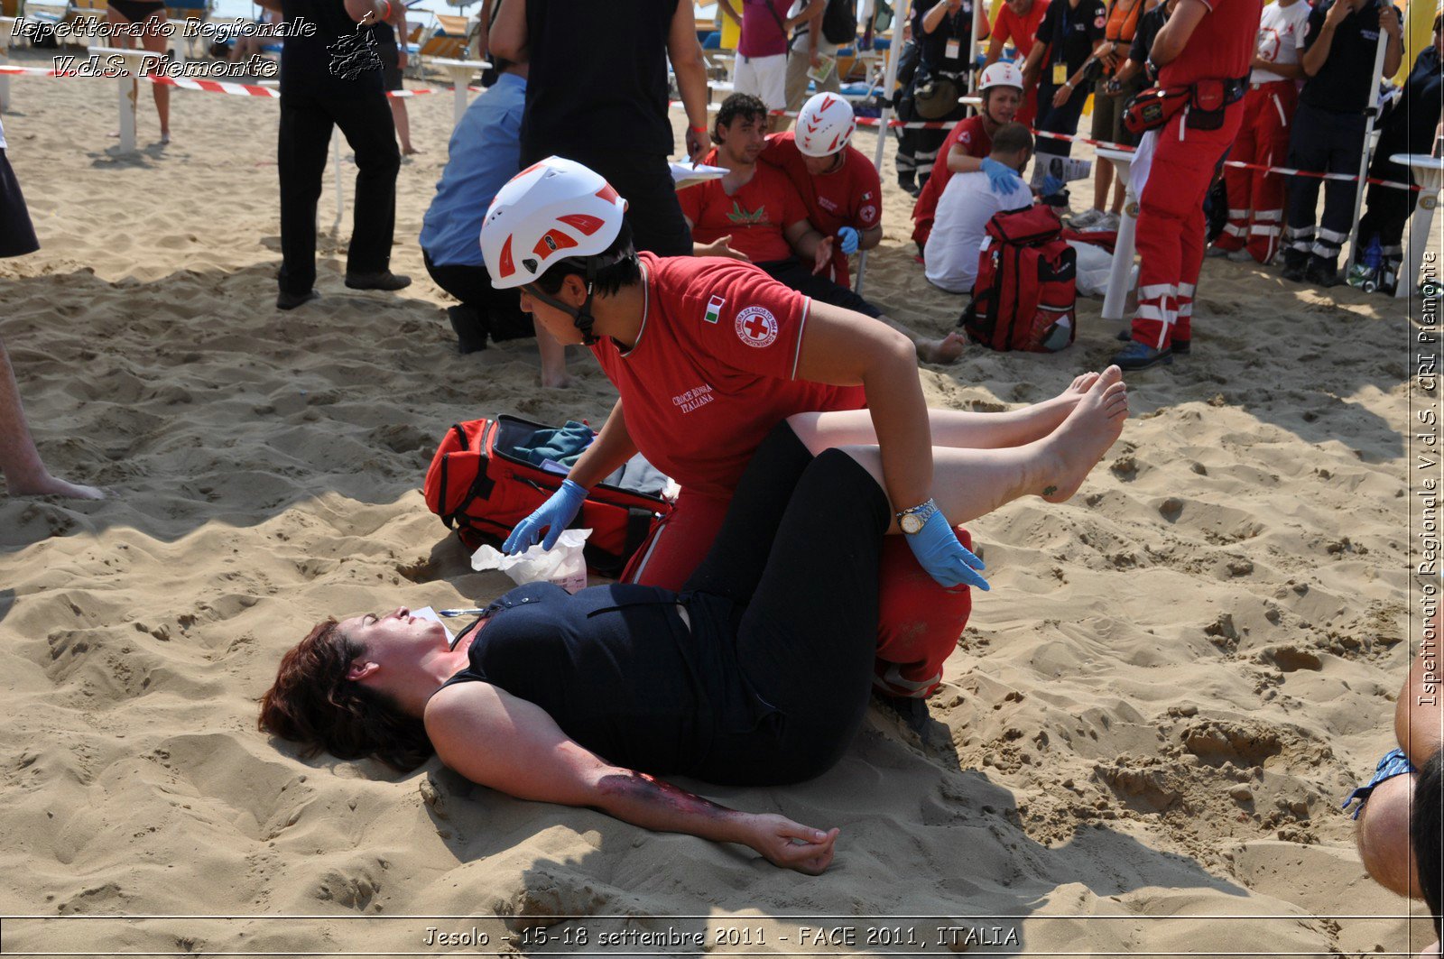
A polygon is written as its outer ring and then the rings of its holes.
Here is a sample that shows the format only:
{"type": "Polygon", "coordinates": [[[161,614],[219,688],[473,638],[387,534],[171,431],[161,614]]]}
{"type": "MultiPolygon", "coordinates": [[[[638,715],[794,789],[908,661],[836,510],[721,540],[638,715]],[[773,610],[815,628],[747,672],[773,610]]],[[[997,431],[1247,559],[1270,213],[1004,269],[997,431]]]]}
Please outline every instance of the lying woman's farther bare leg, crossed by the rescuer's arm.
{"type": "MultiPolygon", "coordinates": [[[[1084,373],[1051,400],[1005,413],[928,410],[933,446],[999,449],[1043,439],[1067,419],[1089,387],[1097,381],[1097,376],[1084,373]]],[[[878,442],[868,410],[796,413],[787,417],[787,422],[813,455],[829,446],[871,446],[878,442]]]]}

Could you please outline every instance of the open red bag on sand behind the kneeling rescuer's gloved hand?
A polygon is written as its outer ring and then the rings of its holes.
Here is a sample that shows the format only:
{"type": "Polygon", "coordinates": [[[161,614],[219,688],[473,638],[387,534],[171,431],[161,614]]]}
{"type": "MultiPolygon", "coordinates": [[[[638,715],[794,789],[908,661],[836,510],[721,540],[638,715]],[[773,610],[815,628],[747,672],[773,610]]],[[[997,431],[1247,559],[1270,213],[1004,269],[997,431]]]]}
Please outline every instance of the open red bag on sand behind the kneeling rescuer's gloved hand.
{"type": "MultiPolygon", "coordinates": [[[[426,471],[426,505],[455,529],[468,550],[484,543],[501,547],[511,529],[557,491],[563,474],[543,469],[518,455],[531,446],[542,423],[500,416],[456,423],[442,438],[426,471]]],[[[671,513],[663,498],[663,477],[640,455],[586,494],[572,523],[589,529],[583,555],[601,576],[618,576],[661,517],[671,513]],[[621,482],[625,485],[614,485],[621,482]],[[635,487],[635,488],[632,488],[635,487]]]]}

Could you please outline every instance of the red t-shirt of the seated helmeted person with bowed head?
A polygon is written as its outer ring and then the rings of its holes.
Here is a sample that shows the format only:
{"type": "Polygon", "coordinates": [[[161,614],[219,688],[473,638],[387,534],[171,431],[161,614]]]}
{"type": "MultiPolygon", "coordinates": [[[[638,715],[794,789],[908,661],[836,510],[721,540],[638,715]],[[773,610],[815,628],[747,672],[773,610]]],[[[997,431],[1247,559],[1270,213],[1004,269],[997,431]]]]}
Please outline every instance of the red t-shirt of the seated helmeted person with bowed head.
{"type": "MultiPolygon", "coordinates": [[[[853,147],[843,147],[839,169],[813,176],[797,149],[796,134],[774,133],[767,137],[762,160],[787,173],[787,179],[801,194],[807,220],[822,235],[835,237],[843,227],[872,230],[882,222],[882,181],[878,179],[878,168],[853,147]]],[[[833,244],[832,279],[839,286],[851,286],[848,257],[838,244],[833,244]]]]}

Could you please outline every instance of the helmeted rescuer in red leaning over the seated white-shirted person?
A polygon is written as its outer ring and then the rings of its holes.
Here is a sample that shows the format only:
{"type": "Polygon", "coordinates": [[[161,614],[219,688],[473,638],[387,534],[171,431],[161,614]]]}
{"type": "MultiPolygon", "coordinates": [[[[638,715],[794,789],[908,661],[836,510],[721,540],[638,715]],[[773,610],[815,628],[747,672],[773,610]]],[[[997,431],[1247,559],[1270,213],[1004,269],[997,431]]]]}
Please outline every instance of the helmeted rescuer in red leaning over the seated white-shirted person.
{"type": "Polygon", "coordinates": [[[978,90],[983,97],[983,111],[947,131],[943,149],[933,160],[933,175],[927,178],[923,192],[913,205],[913,240],[918,253],[927,246],[937,215],[937,201],[953,173],[988,170],[995,194],[1011,192],[1011,182],[1017,178],[1012,170],[992,163],[988,155],[992,153],[992,137],[998,129],[1012,123],[1018,116],[1018,104],[1022,103],[1022,72],[1012,64],[993,64],[983,71],[978,90]]]}

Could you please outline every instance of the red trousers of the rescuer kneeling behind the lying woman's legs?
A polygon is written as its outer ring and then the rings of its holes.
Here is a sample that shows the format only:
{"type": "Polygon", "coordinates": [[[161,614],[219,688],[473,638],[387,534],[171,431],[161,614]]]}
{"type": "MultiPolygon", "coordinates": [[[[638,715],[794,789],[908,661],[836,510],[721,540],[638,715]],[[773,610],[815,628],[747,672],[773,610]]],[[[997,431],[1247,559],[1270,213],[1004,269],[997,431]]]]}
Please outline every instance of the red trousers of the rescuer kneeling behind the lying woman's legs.
{"type": "MultiPolygon", "coordinates": [[[[622,582],[682,589],[712,549],[726,507],[726,500],[683,490],[671,514],[637,550],[622,582]]],[[[957,539],[972,546],[972,537],[962,527],[957,527],[957,539]]],[[[884,537],[879,578],[872,683],[891,696],[926,698],[943,680],[943,661],[957,648],[957,638],[967,625],[972,591],[937,585],[901,536],[884,537]]]]}

